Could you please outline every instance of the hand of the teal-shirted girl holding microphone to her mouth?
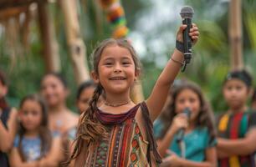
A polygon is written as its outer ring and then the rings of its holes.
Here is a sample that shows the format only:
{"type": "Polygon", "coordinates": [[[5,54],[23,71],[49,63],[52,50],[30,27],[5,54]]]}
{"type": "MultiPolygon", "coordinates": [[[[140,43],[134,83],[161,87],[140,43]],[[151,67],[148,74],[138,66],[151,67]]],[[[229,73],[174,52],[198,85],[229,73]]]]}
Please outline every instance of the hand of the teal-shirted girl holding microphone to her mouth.
{"type": "Polygon", "coordinates": [[[187,127],[188,127],[188,119],[186,114],[177,114],[172,121],[170,130],[173,133],[177,133],[179,129],[187,129],[187,127]]]}

